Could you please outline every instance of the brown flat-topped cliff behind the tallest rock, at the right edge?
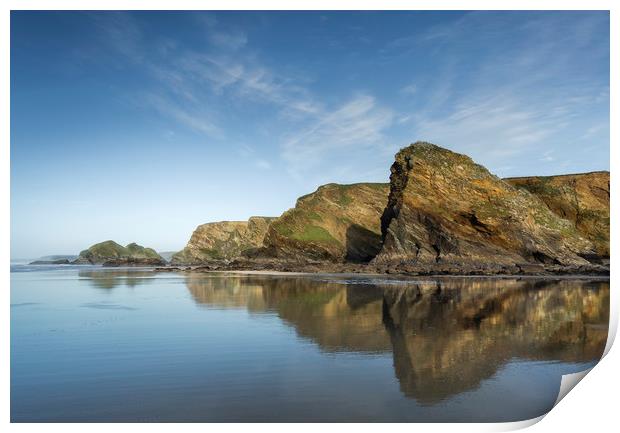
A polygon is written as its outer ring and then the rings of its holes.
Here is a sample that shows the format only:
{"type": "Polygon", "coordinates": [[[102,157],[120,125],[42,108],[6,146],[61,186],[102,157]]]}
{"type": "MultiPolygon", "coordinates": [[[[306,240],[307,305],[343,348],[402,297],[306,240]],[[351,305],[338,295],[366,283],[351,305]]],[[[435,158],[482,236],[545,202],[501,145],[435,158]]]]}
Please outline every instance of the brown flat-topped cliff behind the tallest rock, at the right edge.
{"type": "Polygon", "coordinates": [[[609,258],[609,172],[504,179],[539,197],[549,209],[574,224],[594,244],[598,258],[609,258]]]}

